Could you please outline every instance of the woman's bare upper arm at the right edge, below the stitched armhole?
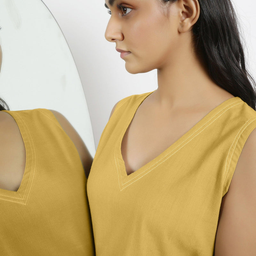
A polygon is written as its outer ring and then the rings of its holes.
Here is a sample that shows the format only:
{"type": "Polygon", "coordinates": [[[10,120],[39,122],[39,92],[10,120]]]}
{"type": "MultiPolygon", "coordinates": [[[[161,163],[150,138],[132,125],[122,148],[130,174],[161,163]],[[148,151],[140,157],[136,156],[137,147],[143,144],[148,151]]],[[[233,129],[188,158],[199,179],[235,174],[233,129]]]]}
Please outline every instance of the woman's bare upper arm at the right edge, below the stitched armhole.
{"type": "Polygon", "coordinates": [[[244,144],[222,199],[215,256],[256,255],[256,130],[244,144]]]}

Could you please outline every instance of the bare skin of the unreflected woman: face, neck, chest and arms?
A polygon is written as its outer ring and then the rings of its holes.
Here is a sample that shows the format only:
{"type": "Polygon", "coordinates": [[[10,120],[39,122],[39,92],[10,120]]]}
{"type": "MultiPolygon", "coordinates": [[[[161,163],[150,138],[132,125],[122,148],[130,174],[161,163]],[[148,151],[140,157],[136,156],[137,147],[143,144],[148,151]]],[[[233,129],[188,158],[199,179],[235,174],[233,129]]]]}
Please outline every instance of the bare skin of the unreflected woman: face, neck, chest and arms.
{"type": "MultiPolygon", "coordinates": [[[[198,0],[178,0],[168,9],[156,0],[115,0],[113,5],[106,0],[105,4],[111,11],[106,39],[131,52],[124,57],[126,70],[137,74],[157,69],[158,89],[142,102],[122,141],[130,174],[234,96],[211,80],[195,53],[191,29],[200,14],[198,0]],[[126,8],[118,10],[116,4],[126,8]]],[[[223,197],[215,256],[256,255],[255,142],[252,131],[223,197]]]]}

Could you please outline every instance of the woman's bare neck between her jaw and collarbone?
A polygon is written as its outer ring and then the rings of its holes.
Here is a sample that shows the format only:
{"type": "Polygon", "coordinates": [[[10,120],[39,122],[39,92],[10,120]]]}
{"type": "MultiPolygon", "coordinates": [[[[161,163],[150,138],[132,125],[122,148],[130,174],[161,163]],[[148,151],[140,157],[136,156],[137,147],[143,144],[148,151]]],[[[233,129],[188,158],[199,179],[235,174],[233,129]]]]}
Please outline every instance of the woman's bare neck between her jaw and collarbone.
{"type": "Polygon", "coordinates": [[[186,42],[180,44],[179,51],[172,53],[169,63],[157,69],[158,89],[155,96],[161,106],[193,106],[202,100],[207,102],[212,93],[223,90],[207,74],[192,42],[186,42]]]}

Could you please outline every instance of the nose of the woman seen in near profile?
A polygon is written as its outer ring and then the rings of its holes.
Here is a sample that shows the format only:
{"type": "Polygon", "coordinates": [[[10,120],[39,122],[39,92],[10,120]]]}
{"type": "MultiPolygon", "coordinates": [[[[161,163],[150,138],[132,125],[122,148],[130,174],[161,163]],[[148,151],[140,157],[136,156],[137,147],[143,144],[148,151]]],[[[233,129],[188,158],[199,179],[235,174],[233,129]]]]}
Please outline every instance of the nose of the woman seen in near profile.
{"type": "Polygon", "coordinates": [[[108,21],[108,26],[105,31],[105,38],[109,42],[116,42],[116,41],[124,40],[124,35],[122,33],[121,25],[115,19],[114,16],[111,16],[111,18],[108,21]]]}

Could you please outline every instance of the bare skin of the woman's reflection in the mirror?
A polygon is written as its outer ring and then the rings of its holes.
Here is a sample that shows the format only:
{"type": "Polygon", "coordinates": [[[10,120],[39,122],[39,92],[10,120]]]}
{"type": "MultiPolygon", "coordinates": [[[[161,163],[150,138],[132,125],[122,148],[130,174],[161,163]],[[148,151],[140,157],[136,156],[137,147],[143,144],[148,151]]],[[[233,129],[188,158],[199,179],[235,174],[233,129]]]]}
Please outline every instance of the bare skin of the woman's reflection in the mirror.
{"type": "MultiPolygon", "coordinates": [[[[0,45],[0,70],[2,66],[2,49],[0,45]]],[[[86,178],[92,165],[92,156],[76,130],[59,112],[52,110],[63,130],[76,146],[84,167],[86,178]]],[[[23,179],[26,165],[26,151],[20,130],[15,120],[6,112],[0,111],[0,188],[17,191],[23,179]],[[15,161],[13,161],[15,159],[15,161]]]]}

